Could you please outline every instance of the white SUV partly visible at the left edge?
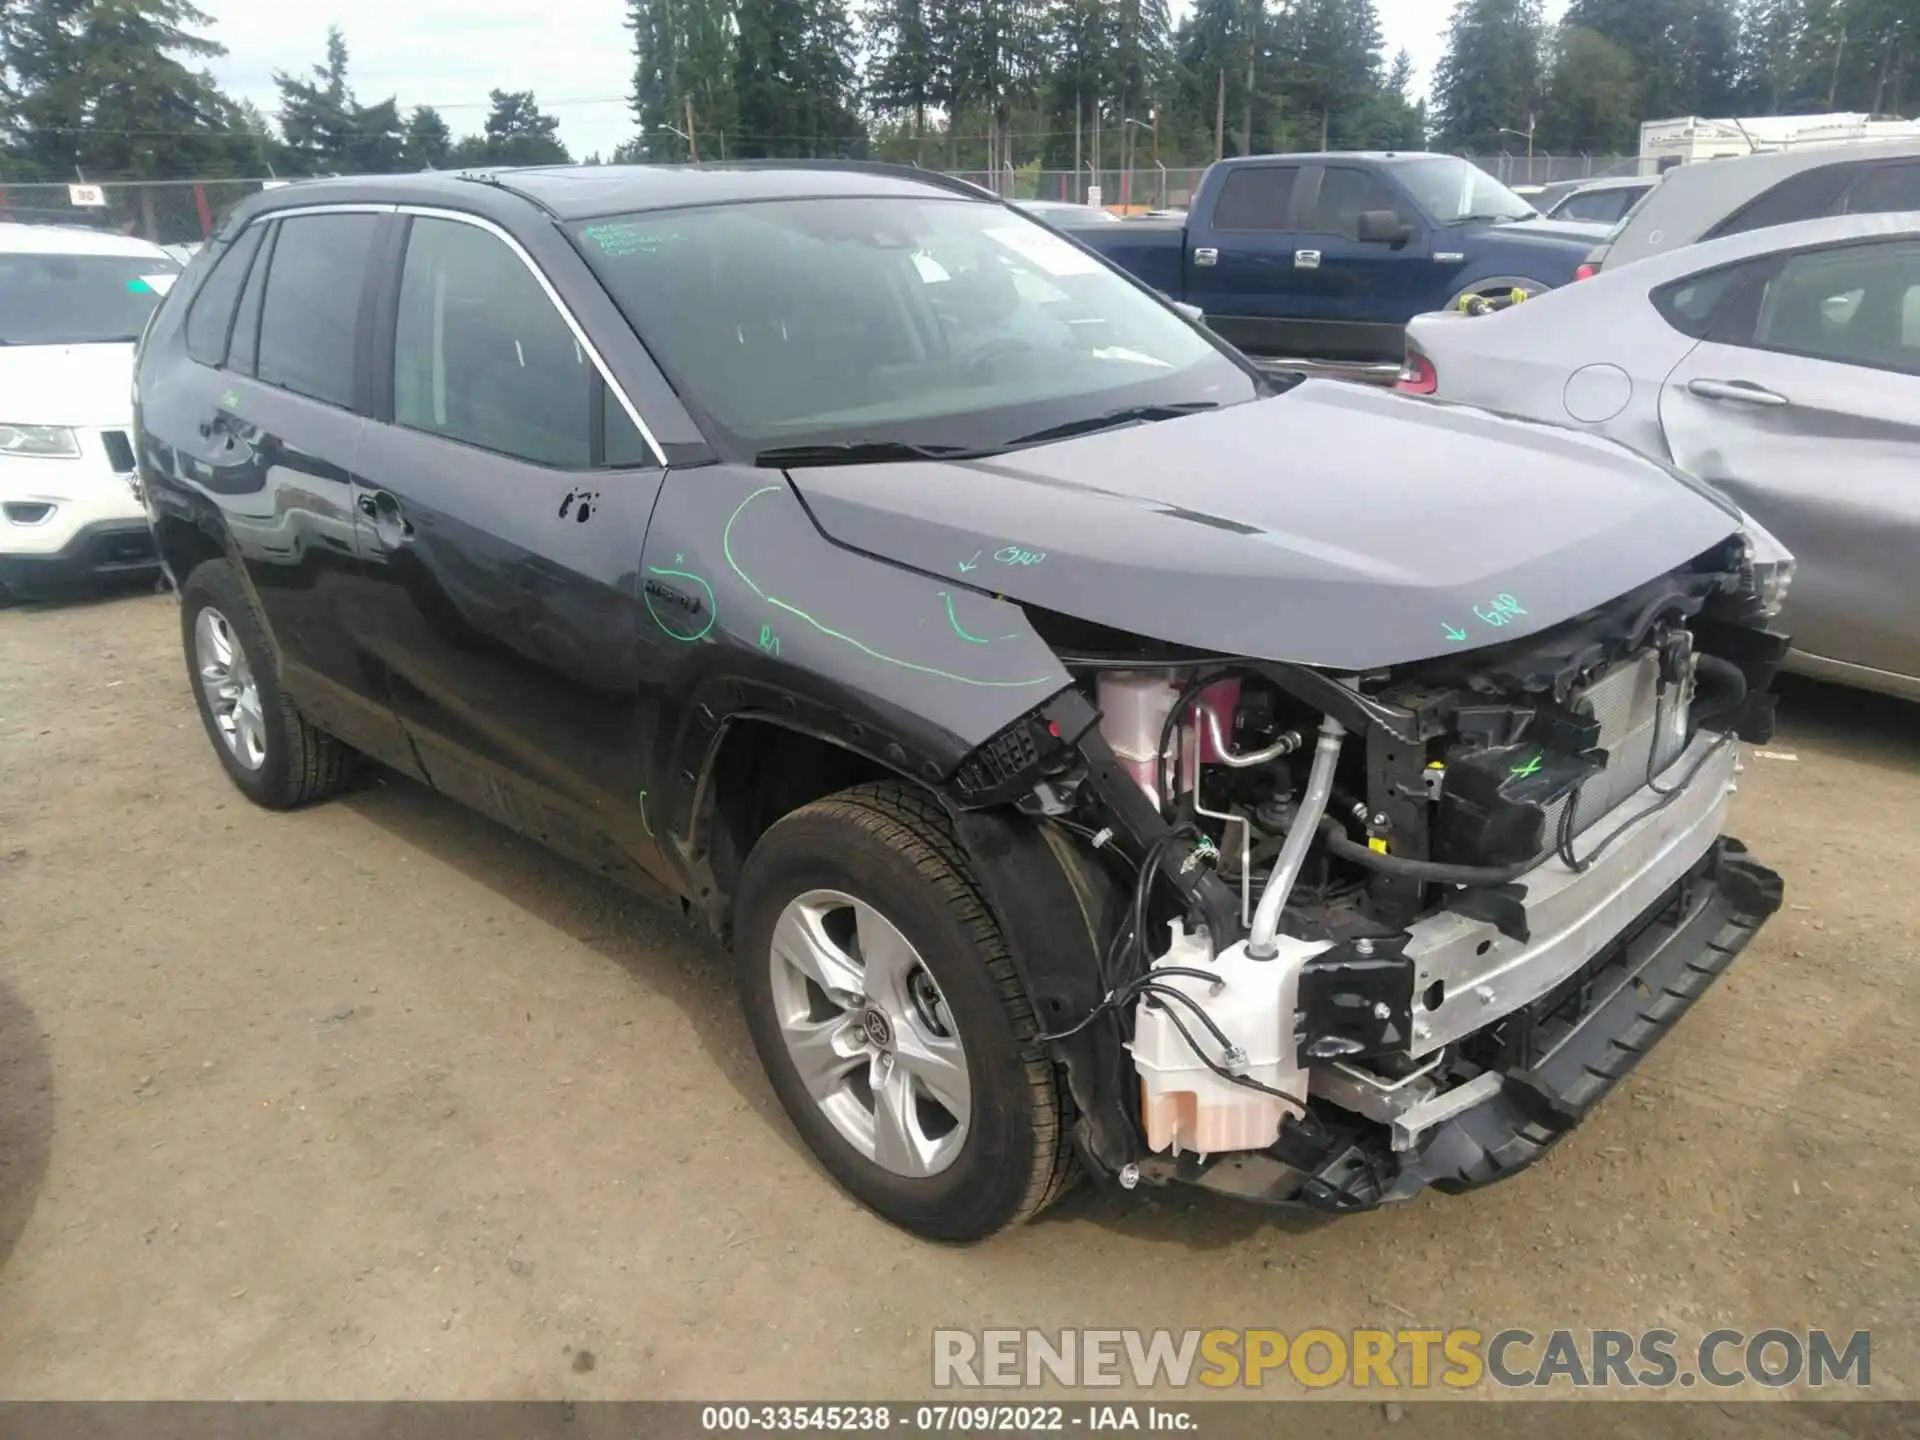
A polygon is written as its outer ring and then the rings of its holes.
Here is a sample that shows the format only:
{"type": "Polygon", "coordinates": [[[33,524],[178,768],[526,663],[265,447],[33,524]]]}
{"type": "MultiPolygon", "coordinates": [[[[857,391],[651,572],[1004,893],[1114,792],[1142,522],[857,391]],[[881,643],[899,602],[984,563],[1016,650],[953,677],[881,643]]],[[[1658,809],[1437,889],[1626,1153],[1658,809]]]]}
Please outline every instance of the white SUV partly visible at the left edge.
{"type": "Polygon", "coordinates": [[[0,225],[0,589],[156,574],[132,348],[180,267],[144,240],[0,225]]]}

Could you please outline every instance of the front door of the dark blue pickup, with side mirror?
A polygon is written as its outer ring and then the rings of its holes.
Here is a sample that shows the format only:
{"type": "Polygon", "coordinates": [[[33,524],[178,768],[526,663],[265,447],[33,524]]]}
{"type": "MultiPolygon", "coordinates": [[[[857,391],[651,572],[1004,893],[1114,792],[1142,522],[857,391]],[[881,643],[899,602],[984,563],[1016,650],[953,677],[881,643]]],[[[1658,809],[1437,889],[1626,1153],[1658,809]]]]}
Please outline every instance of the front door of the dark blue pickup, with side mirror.
{"type": "Polygon", "coordinates": [[[1306,175],[1294,246],[1296,315],[1306,353],[1400,359],[1405,323],[1423,307],[1430,236],[1419,209],[1377,171],[1325,165],[1306,175]],[[1359,217],[1390,211],[1413,234],[1400,246],[1359,238],[1359,217]]]}

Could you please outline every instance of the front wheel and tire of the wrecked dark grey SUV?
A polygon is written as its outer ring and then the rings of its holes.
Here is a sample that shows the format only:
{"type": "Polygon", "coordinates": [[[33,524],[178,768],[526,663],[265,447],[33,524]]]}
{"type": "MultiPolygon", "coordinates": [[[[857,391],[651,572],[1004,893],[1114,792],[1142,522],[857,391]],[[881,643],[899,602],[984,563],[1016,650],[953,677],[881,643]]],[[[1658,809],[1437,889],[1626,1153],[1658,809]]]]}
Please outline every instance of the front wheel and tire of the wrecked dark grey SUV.
{"type": "MultiPolygon", "coordinates": [[[[860,1204],[931,1240],[979,1240],[1031,1219],[1068,1190],[1075,1165],[1066,1096],[1033,1039],[1039,1023],[1006,941],[931,797],[897,783],[860,785],[780,820],[747,858],[733,937],[747,1029],[774,1092],[806,1146],[860,1204]],[[856,904],[839,906],[833,897],[856,904]],[[812,914],[822,916],[818,929],[806,929],[812,914]],[[872,937],[868,916],[877,918],[872,937]],[[776,931],[785,954],[803,933],[837,937],[839,958],[860,966],[837,973],[852,975],[860,991],[839,987],[835,1000],[818,979],[801,981],[803,970],[776,954],[776,931]],[[904,941],[910,960],[900,960],[895,941],[904,941]],[[851,1004],[856,993],[870,1004],[851,1004]],[[797,1006],[806,1014],[797,1016],[797,1006]],[[879,1043],[868,1025],[874,1010],[891,1031],[879,1043]],[[824,1102],[803,1079],[789,1035],[835,1027],[833,1046],[806,1048],[828,1068],[847,1069],[824,1102]],[[954,1094],[958,1085],[927,1054],[945,1060],[954,1043],[968,1114],[939,1135],[956,1116],[935,1092],[954,1094]],[[887,1146],[883,1135],[900,1127],[883,1125],[881,1094],[897,1100],[902,1087],[912,1104],[887,1104],[885,1114],[910,1114],[910,1139],[887,1146]],[[872,1144],[849,1137],[862,1104],[874,1112],[872,1144]],[[929,1173],[902,1167],[902,1154],[929,1173]]],[[[829,1083],[820,1064],[810,1073],[818,1089],[829,1083]]]]}

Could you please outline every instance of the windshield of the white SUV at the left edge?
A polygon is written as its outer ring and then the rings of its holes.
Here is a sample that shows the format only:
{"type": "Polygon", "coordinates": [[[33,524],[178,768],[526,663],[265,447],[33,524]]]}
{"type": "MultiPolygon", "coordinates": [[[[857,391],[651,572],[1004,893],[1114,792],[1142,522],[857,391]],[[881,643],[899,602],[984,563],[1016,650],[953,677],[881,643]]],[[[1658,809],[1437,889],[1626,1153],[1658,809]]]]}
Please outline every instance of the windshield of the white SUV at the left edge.
{"type": "Polygon", "coordinates": [[[132,344],[179,273],[165,255],[0,252],[0,344],[132,344]]]}

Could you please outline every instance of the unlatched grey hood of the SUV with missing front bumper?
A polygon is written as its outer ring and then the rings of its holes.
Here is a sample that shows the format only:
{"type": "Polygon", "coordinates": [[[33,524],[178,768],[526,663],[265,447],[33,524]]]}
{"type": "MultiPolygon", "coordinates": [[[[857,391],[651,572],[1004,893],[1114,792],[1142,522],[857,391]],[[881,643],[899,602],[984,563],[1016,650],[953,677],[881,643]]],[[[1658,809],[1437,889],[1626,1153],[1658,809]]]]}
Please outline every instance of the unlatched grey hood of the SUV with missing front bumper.
{"type": "Polygon", "coordinates": [[[1544,630],[1736,530],[1611,442],[1331,380],[985,461],[791,480],[831,540],[947,586],[1340,670],[1544,630]]]}

